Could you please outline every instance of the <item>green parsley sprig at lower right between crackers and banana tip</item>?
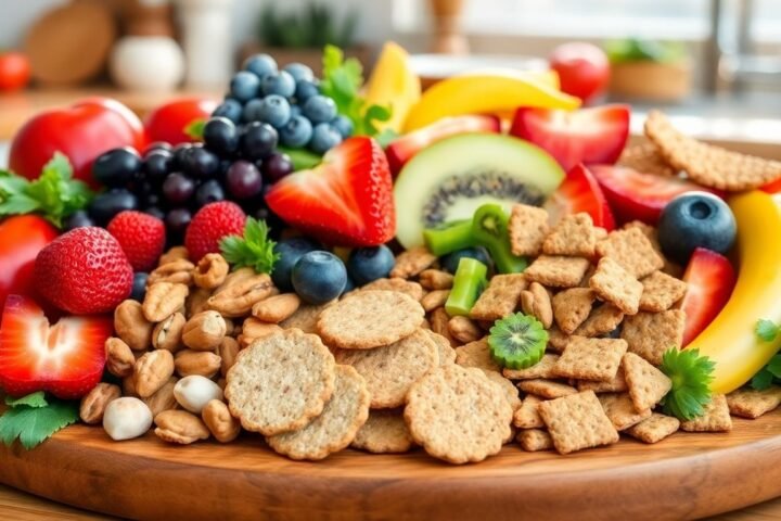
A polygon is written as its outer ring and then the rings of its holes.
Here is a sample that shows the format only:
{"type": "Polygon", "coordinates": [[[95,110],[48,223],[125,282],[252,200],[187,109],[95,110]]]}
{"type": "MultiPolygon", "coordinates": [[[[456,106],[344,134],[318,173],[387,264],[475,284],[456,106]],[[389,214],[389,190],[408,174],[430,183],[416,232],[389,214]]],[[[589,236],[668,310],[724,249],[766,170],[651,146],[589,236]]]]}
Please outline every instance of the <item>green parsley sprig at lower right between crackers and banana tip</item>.
{"type": "Polygon", "coordinates": [[[662,372],[673,381],[673,387],[662,401],[664,411],[687,421],[701,416],[710,403],[710,382],[716,364],[700,350],[670,347],[662,357],[662,372]]]}

